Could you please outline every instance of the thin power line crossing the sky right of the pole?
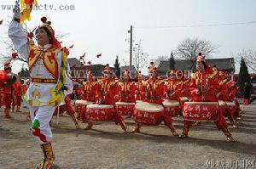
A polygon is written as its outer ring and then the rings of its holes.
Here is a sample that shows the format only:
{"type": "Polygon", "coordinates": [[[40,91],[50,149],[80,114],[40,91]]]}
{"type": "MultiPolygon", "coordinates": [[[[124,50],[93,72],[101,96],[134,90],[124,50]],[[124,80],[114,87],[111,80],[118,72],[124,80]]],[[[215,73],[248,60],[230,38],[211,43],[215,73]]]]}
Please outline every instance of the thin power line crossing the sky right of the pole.
{"type": "Polygon", "coordinates": [[[224,25],[251,25],[256,24],[256,21],[247,22],[235,22],[235,23],[221,23],[221,24],[206,24],[206,25],[161,25],[152,27],[135,27],[137,29],[162,29],[162,28],[193,28],[193,27],[214,27],[214,26],[224,26],[224,25]]]}

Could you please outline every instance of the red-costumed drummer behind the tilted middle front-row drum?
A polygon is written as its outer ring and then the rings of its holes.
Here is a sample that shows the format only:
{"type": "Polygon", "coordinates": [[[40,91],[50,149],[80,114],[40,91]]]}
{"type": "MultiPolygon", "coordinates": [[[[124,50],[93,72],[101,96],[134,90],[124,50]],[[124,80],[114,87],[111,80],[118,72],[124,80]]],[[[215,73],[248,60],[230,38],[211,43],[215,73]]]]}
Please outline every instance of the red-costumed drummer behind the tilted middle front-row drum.
{"type": "MultiPolygon", "coordinates": [[[[146,85],[146,97],[145,102],[162,104],[164,98],[165,81],[158,76],[157,69],[154,66],[154,62],[150,63],[148,67],[150,75],[146,85]]],[[[171,129],[173,136],[178,136],[175,128],[172,125],[172,116],[164,115],[164,123],[171,129]]],[[[132,132],[140,132],[141,125],[136,123],[136,127],[132,132]]]]}

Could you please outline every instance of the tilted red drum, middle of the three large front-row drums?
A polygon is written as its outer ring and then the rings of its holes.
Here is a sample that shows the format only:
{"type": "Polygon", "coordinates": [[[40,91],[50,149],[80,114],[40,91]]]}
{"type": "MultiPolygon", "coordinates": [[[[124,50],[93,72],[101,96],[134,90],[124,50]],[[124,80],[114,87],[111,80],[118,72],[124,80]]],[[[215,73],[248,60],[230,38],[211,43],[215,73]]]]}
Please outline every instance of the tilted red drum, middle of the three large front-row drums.
{"type": "Polygon", "coordinates": [[[160,104],[141,102],[135,104],[134,121],[145,125],[159,125],[163,121],[164,107],[160,104]]]}

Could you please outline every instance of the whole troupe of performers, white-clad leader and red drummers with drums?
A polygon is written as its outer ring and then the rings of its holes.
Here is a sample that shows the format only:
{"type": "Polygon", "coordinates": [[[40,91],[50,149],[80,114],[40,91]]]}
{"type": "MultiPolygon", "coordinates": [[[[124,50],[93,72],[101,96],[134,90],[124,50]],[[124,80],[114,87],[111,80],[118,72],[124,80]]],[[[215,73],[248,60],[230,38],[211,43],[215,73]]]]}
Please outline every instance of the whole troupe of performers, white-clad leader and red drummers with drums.
{"type": "Polygon", "coordinates": [[[116,79],[109,65],[98,80],[88,70],[87,81],[81,88],[81,99],[75,101],[73,110],[70,99],[73,82],[68,75],[67,48],[61,47],[51,22],[45,17],[41,19],[43,24],[35,29],[38,45],[34,44],[32,36],[20,24],[18,3],[14,13],[9,25],[9,38],[20,56],[27,60],[30,82],[25,87],[24,82],[11,74],[11,66],[6,63],[4,70],[0,71],[1,104],[5,107],[4,117],[9,118],[14,106],[16,111],[20,110],[20,98],[24,95],[32,121],[32,136],[44,155],[38,168],[50,168],[55,161],[49,123],[57,107],[71,115],[77,128],[75,112],[78,112],[79,118],[88,123],[86,130],[97,121],[114,121],[126,132],[126,117],[135,121],[132,132],[140,132],[143,126],[156,126],[164,121],[173,136],[188,138],[189,128],[196,122],[213,121],[229,141],[235,142],[224,116],[236,127],[240,116],[235,99],[238,88],[230,82],[226,72],[210,68],[202,54],[198,54],[197,71],[191,76],[183,75],[181,70],[171,70],[168,78],[162,79],[154,63],[148,67],[148,80],[138,73],[137,82],[132,81],[128,70],[116,79]],[[183,116],[180,135],[172,124],[172,117],[176,115],[183,116]]]}

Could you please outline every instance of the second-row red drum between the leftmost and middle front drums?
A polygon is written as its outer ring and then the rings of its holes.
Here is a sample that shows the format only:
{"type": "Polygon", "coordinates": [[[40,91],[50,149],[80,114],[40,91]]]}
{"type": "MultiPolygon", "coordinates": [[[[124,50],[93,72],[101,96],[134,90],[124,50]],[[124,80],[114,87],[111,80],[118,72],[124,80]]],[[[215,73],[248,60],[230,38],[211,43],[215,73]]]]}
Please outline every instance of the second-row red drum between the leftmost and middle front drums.
{"type": "Polygon", "coordinates": [[[120,115],[128,115],[129,117],[131,117],[131,115],[133,114],[134,105],[134,103],[116,102],[115,108],[120,115]]]}

